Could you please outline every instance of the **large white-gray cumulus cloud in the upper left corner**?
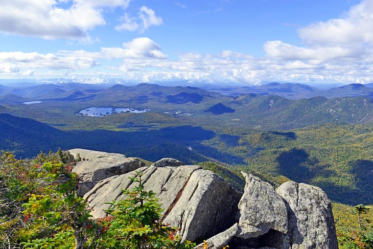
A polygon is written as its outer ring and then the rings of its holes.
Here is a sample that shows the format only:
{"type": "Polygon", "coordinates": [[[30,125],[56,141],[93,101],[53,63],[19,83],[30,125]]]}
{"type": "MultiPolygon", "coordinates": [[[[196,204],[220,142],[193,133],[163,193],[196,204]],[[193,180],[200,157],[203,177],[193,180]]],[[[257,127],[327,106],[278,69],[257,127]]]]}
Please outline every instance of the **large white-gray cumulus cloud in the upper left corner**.
{"type": "Polygon", "coordinates": [[[0,32],[44,39],[89,39],[88,31],[106,24],[100,7],[127,7],[129,0],[2,1],[0,32]],[[71,4],[68,8],[60,3],[71,4]]]}

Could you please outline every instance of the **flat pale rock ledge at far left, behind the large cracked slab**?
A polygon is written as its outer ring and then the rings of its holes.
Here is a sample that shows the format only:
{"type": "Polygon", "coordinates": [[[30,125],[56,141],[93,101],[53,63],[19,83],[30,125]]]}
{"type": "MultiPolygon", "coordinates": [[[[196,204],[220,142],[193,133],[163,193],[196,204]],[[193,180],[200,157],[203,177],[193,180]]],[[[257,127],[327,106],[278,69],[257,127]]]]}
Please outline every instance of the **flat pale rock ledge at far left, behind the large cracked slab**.
{"type": "Polygon", "coordinates": [[[68,152],[76,159],[81,158],[72,170],[79,177],[79,196],[84,196],[102,179],[125,174],[145,166],[144,162],[135,157],[126,157],[117,153],[86,149],[72,149],[68,152]]]}

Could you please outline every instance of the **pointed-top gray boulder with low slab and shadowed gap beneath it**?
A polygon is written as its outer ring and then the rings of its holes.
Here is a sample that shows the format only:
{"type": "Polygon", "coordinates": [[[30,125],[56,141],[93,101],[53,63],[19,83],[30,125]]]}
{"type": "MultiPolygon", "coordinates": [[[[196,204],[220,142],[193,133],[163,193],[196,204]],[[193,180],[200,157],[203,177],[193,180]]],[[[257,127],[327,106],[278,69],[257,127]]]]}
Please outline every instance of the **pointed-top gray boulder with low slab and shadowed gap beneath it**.
{"type": "MultiPolygon", "coordinates": [[[[245,177],[244,194],[238,204],[237,223],[208,239],[208,248],[282,248],[288,232],[288,215],[284,199],[260,178],[241,172],[245,177]]],[[[199,244],[196,249],[202,249],[199,244]]]]}

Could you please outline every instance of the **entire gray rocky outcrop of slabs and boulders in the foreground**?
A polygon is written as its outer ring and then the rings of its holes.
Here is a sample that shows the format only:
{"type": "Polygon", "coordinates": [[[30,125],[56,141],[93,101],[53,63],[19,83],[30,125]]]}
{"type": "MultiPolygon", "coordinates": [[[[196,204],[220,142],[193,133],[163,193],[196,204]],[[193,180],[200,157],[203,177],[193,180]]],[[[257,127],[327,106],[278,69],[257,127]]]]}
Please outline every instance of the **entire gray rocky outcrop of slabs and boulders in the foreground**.
{"type": "Polygon", "coordinates": [[[107,202],[125,198],[122,190],[136,184],[129,177],[140,171],[145,190],[155,192],[164,208],[162,222],[180,228],[183,240],[207,239],[209,248],[338,248],[331,202],[320,188],[287,182],[274,190],[242,172],[246,186],[240,193],[213,172],[172,159],[143,167],[124,155],[73,152],[89,158],[74,170],[80,186],[89,185],[84,198],[94,218],[106,216],[107,202]],[[110,160],[95,164],[105,158],[110,160]],[[102,180],[87,178],[84,171],[102,180]]]}

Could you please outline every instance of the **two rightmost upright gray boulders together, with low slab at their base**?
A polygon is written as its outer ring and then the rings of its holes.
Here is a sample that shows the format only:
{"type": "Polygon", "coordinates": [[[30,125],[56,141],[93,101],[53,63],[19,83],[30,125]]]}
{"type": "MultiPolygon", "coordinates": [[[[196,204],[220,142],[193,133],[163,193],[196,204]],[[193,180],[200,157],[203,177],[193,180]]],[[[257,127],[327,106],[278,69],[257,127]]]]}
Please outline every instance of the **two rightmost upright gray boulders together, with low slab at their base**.
{"type": "Polygon", "coordinates": [[[207,239],[207,248],[338,248],[331,203],[320,188],[287,182],[275,191],[260,178],[242,174],[246,186],[237,223],[207,239]]]}

